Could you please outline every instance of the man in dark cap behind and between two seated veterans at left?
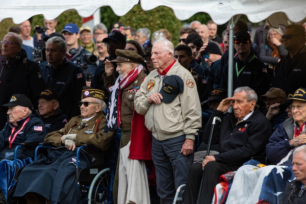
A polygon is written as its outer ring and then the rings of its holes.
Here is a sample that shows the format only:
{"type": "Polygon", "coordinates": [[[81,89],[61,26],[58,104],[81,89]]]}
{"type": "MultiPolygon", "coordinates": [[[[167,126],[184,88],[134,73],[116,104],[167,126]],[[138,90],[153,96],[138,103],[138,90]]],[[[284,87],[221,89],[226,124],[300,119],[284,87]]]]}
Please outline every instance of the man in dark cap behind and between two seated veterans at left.
{"type": "Polygon", "coordinates": [[[68,122],[68,117],[60,109],[60,96],[54,89],[46,89],[37,96],[38,110],[34,114],[40,118],[47,133],[58,131],[68,122]]]}

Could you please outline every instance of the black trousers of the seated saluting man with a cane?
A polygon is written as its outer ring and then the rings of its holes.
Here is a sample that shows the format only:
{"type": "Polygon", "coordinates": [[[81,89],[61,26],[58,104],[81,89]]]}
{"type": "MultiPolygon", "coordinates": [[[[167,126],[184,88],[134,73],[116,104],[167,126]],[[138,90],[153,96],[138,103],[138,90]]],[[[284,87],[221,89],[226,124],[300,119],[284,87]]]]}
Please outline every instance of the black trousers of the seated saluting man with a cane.
{"type": "Polygon", "coordinates": [[[209,162],[202,171],[202,163],[194,163],[189,169],[188,179],[185,188],[184,203],[196,204],[200,193],[200,204],[211,204],[214,196],[214,188],[219,183],[220,175],[228,171],[236,171],[239,166],[227,165],[220,162],[209,162]],[[200,184],[202,182],[202,188],[200,184]]]}

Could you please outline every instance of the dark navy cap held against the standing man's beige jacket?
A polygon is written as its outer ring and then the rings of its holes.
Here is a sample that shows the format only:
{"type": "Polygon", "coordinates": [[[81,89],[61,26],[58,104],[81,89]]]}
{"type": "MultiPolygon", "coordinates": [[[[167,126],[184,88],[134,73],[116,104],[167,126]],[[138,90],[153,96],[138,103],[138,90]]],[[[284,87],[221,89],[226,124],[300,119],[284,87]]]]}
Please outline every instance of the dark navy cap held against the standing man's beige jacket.
{"type": "Polygon", "coordinates": [[[166,104],[170,104],[177,95],[183,93],[184,82],[177,75],[169,75],[163,79],[163,87],[160,93],[163,96],[162,101],[166,104]]]}

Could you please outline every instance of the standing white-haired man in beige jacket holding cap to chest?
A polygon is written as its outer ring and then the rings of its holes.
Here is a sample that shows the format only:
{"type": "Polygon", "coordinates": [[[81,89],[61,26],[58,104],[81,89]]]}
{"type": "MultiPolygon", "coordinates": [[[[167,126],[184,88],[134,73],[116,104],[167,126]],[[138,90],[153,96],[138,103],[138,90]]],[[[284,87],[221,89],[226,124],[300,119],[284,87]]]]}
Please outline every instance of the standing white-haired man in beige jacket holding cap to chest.
{"type": "Polygon", "coordinates": [[[161,203],[172,203],[187,182],[194,140],[201,127],[201,107],[191,73],[174,59],[173,44],[159,38],[152,46],[152,70],[135,95],[135,111],[152,132],[152,159],[161,203]]]}

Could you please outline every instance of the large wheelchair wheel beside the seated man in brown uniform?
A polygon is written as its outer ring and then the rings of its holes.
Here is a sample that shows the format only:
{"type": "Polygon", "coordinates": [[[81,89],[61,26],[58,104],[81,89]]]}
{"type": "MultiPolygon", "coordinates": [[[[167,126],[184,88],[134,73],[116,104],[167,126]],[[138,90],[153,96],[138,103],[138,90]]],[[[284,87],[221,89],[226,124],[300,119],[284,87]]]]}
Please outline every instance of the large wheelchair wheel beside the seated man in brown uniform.
{"type": "Polygon", "coordinates": [[[107,193],[110,182],[110,168],[100,171],[92,180],[88,192],[88,204],[107,203],[107,193]]]}

